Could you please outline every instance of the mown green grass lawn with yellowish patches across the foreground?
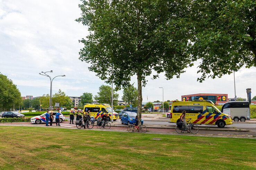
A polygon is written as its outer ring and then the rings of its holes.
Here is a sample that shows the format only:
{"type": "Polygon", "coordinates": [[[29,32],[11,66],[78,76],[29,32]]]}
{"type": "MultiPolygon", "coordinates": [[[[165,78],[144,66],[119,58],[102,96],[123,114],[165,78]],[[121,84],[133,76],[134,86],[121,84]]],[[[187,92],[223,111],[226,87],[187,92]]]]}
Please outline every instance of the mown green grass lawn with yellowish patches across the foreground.
{"type": "Polygon", "coordinates": [[[0,169],[256,168],[244,138],[0,126],[0,143],[0,169]]]}

